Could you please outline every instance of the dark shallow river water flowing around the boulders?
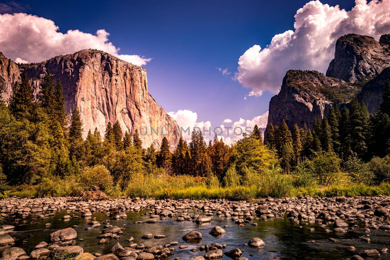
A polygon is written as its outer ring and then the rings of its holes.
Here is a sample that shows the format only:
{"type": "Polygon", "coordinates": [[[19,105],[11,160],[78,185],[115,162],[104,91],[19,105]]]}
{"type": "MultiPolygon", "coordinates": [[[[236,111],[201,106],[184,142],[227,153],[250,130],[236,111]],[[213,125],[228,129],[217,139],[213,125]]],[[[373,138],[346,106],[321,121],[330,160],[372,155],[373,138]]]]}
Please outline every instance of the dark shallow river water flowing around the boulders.
{"type": "MultiPolygon", "coordinates": [[[[77,212],[73,212],[73,214],[81,216],[81,214],[77,212]]],[[[174,218],[167,217],[164,220],[158,219],[158,223],[143,222],[136,224],[134,223],[135,221],[147,221],[149,216],[143,215],[143,211],[138,213],[126,212],[126,214],[128,215],[127,219],[114,220],[101,212],[92,213],[92,217],[96,218],[96,221],[101,222],[110,219],[112,225],[125,228],[122,230],[123,234],[120,235],[121,237],[119,239],[106,239],[107,244],[105,245],[99,245],[98,242],[100,239],[97,238],[103,230],[103,224],[99,228],[86,231],[84,228],[89,227],[87,223],[93,219],[72,218],[70,221],[64,221],[62,216],[71,215],[69,212],[56,213],[51,219],[46,220],[29,216],[18,223],[11,221],[10,224],[15,225],[14,231],[16,232],[12,232],[10,235],[15,238],[15,246],[19,246],[25,249],[27,253],[30,253],[39,242],[48,242],[49,234],[55,230],[71,227],[73,225],[80,225],[75,228],[75,230],[78,234],[77,238],[83,239],[83,241],[77,241],[77,244],[82,246],[85,252],[105,254],[108,253],[112,246],[117,242],[123,247],[128,246],[129,243],[126,242],[126,239],[133,236],[134,243],[142,242],[145,245],[164,245],[169,242],[177,241],[179,242],[179,245],[174,246],[176,251],[175,254],[171,256],[171,259],[178,256],[183,260],[188,260],[198,255],[203,256],[204,252],[191,252],[190,249],[205,244],[211,244],[212,242],[227,244],[228,247],[223,250],[224,252],[237,247],[245,249],[242,256],[247,257],[250,260],[272,258],[349,259],[351,256],[356,255],[356,252],[352,253],[347,251],[345,249],[347,246],[355,246],[356,251],[377,249],[379,252],[381,248],[390,247],[390,233],[385,232],[384,230],[371,230],[369,233],[371,243],[361,241],[359,237],[365,235],[362,231],[362,228],[364,228],[362,224],[358,224],[360,225],[360,228],[337,235],[335,233],[325,232],[324,229],[316,223],[302,225],[303,228],[299,228],[299,225],[294,224],[287,218],[273,221],[254,220],[253,222],[257,222],[258,224],[257,226],[238,226],[231,221],[231,218],[218,216],[213,216],[211,223],[202,225],[193,223],[192,221],[176,221],[177,216],[174,218]],[[22,223],[22,221],[27,221],[27,223],[22,223]],[[52,225],[50,227],[45,227],[46,223],[51,223],[52,225]],[[122,226],[124,224],[127,225],[122,226]],[[209,231],[214,226],[223,227],[225,225],[229,225],[229,227],[224,228],[227,232],[226,234],[218,237],[209,235],[209,231]],[[308,231],[308,228],[315,228],[315,231],[310,232],[308,231]],[[29,231],[39,229],[43,230],[29,231]],[[200,242],[186,242],[181,239],[184,234],[192,230],[202,233],[203,237],[200,242]],[[147,233],[153,235],[163,234],[168,237],[164,239],[141,239],[142,235],[147,233]],[[252,237],[261,238],[266,246],[259,249],[243,246],[243,243],[247,243],[252,237]],[[335,238],[338,239],[338,241],[331,242],[328,240],[329,238],[335,238]],[[314,240],[315,242],[309,242],[311,240],[314,240]],[[179,246],[182,244],[188,245],[188,248],[179,249],[179,246]]],[[[332,229],[332,225],[329,225],[329,227],[332,229]]],[[[230,259],[225,255],[223,255],[223,258],[230,259]]],[[[390,254],[381,254],[381,259],[390,259],[390,254]]]]}

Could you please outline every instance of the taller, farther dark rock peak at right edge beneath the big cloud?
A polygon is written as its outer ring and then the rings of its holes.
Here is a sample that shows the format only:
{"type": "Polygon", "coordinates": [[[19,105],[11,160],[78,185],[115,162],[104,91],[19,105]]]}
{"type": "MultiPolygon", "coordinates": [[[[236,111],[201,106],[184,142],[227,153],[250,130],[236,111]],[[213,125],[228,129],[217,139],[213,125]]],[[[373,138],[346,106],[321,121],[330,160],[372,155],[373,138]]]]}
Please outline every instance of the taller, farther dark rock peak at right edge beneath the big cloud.
{"type": "Polygon", "coordinates": [[[347,34],[336,42],[335,58],[326,76],[347,82],[371,79],[390,64],[390,35],[382,35],[379,42],[366,35],[347,34]]]}

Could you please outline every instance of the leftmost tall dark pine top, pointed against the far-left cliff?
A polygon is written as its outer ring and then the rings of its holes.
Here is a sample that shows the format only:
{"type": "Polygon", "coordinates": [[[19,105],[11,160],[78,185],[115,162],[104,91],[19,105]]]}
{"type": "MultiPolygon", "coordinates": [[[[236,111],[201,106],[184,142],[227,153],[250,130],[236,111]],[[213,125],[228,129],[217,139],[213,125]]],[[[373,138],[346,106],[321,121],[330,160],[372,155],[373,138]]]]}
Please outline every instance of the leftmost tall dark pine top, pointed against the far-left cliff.
{"type": "Polygon", "coordinates": [[[23,73],[21,83],[12,88],[9,110],[16,119],[26,118],[30,115],[32,103],[32,87],[26,73],[23,73]]]}

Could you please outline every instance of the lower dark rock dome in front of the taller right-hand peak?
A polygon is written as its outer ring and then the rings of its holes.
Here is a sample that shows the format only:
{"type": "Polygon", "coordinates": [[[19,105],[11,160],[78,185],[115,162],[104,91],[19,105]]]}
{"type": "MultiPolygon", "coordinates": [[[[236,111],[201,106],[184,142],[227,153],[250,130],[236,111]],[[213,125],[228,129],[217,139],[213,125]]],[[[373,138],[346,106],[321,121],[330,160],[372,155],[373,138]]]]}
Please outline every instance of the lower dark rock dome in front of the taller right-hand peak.
{"type": "Polygon", "coordinates": [[[277,126],[284,119],[290,129],[295,123],[311,128],[314,118],[327,115],[334,103],[351,101],[359,91],[359,87],[318,71],[289,70],[279,94],[269,101],[268,124],[277,126]]]}

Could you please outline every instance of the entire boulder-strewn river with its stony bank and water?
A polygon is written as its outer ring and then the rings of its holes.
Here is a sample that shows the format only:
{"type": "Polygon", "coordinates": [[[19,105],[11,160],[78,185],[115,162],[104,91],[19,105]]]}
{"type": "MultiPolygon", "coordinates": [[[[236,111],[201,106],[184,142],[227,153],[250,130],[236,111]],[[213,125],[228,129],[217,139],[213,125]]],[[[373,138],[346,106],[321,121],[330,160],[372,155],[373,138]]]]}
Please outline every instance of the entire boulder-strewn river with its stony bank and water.
{"type": "Polygon", "coordinates": [[[1,260],[390,259],[390,197],[0,200],[1,260]]]}

